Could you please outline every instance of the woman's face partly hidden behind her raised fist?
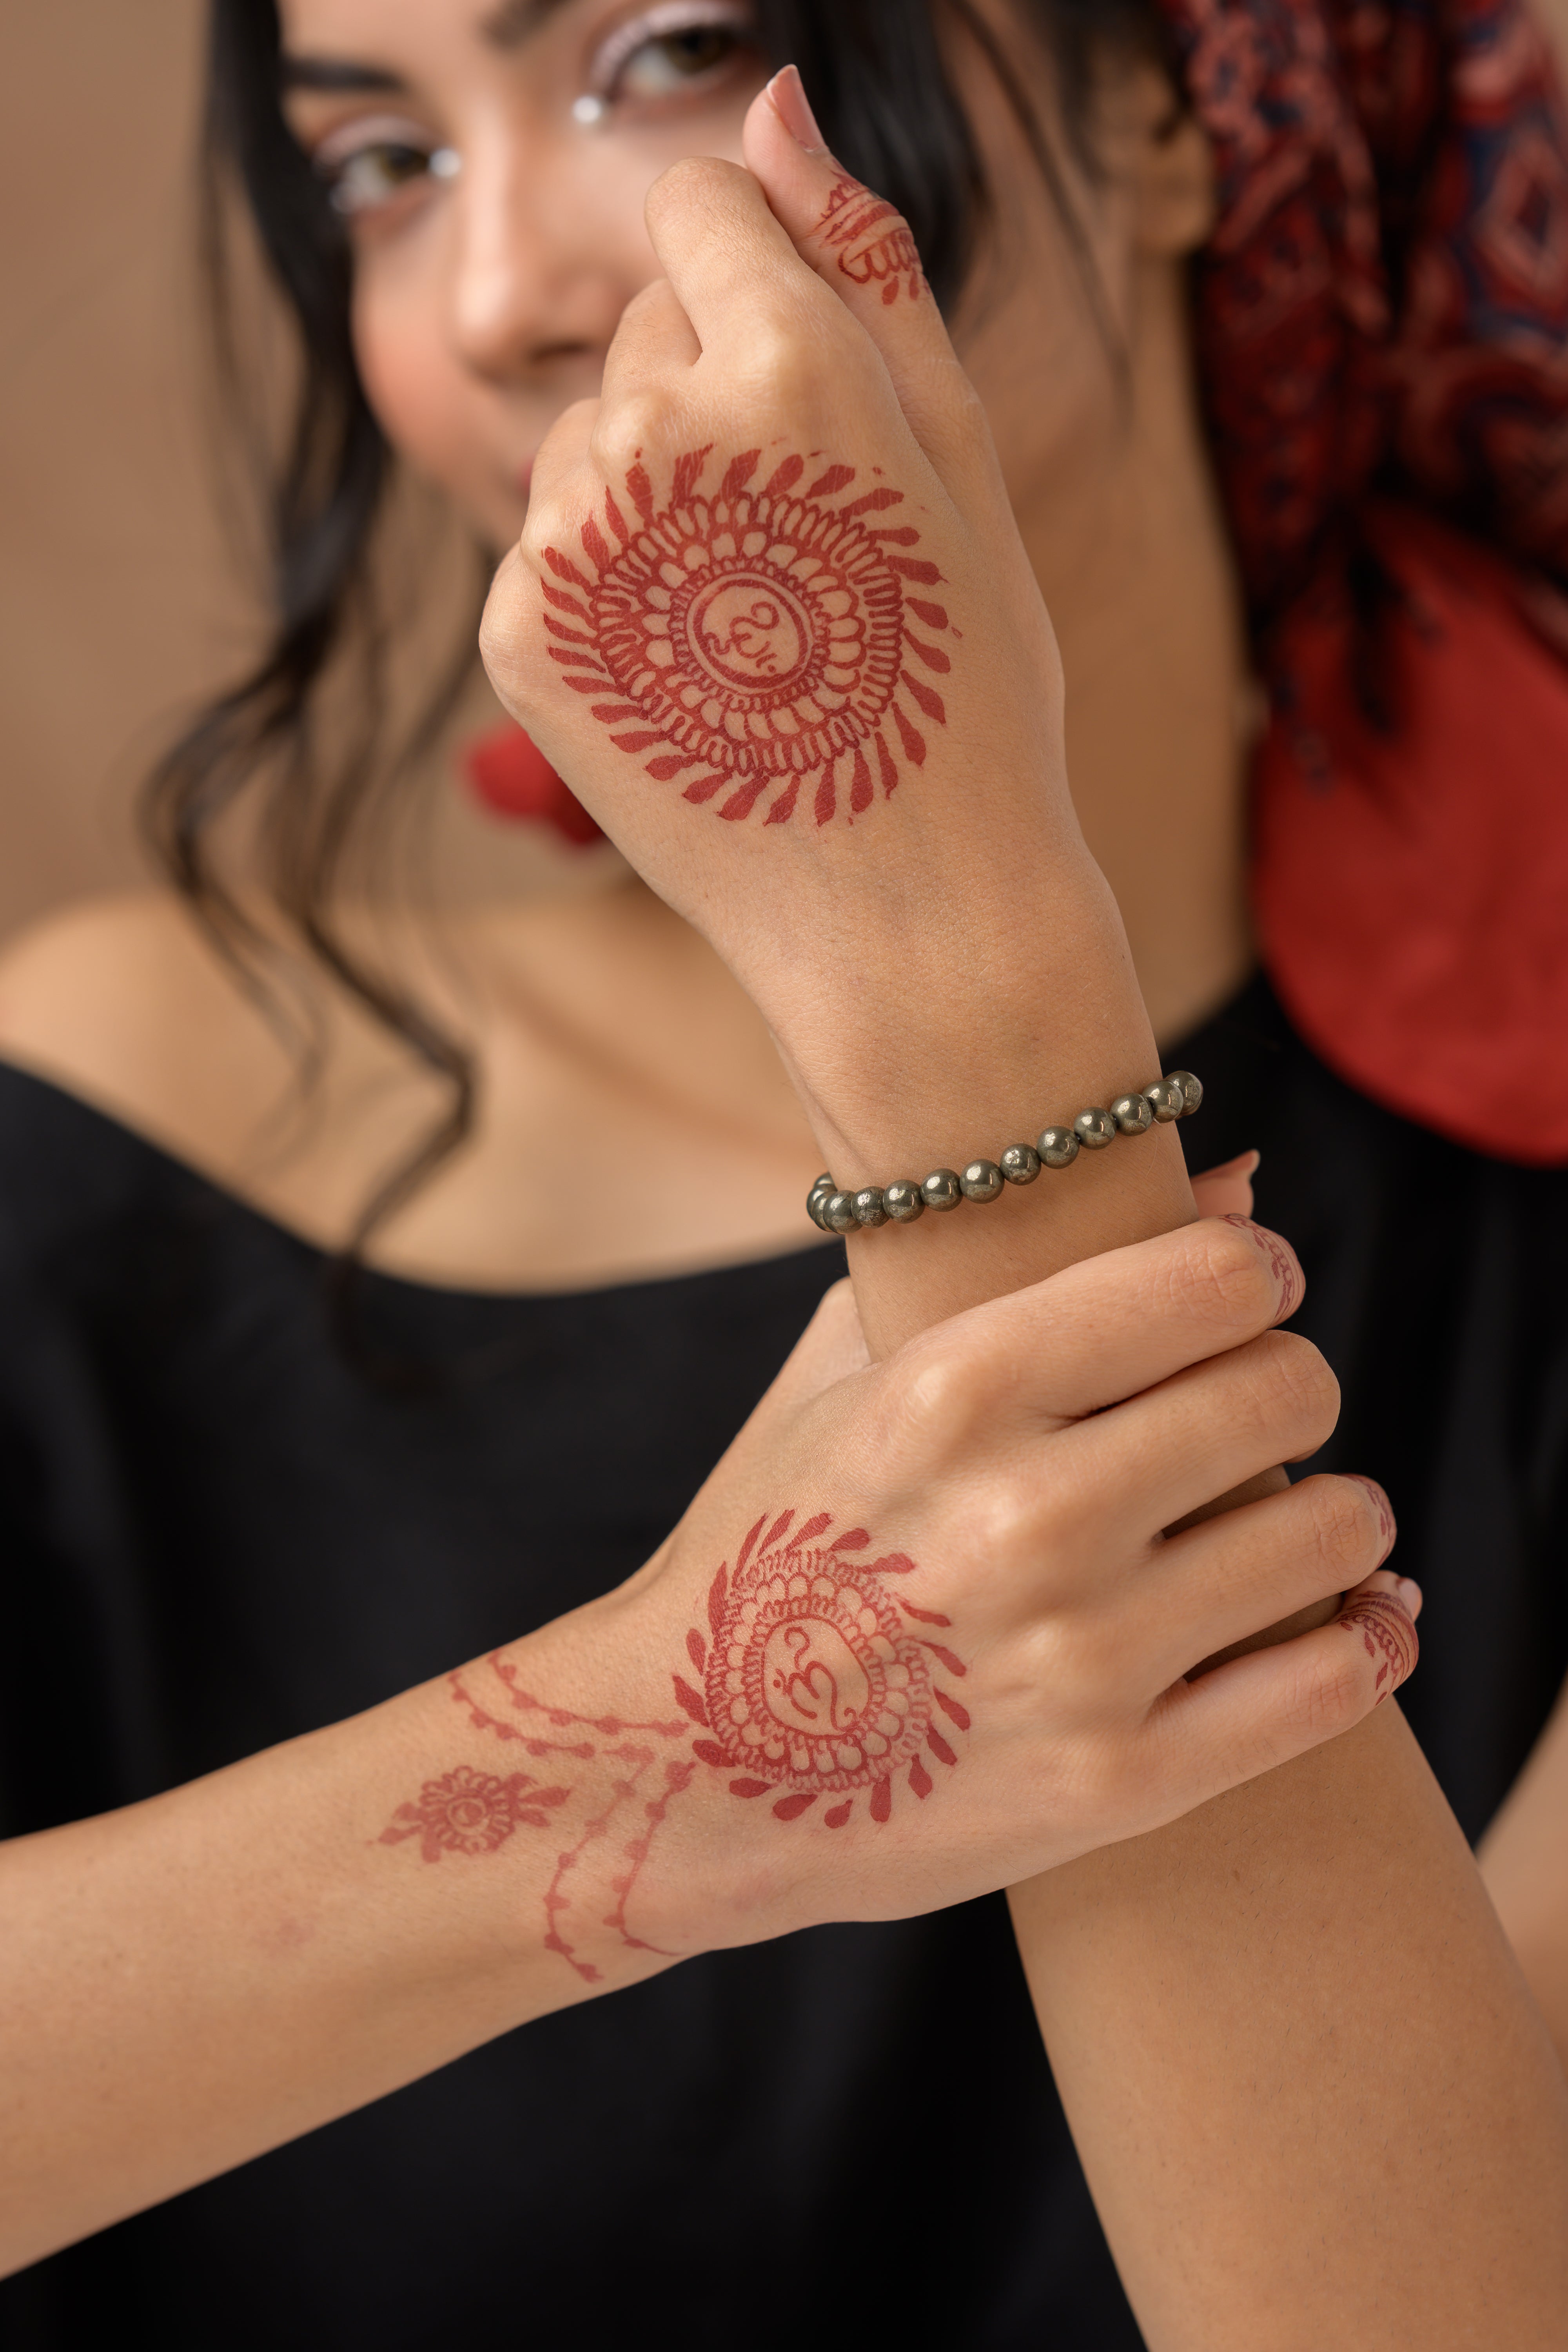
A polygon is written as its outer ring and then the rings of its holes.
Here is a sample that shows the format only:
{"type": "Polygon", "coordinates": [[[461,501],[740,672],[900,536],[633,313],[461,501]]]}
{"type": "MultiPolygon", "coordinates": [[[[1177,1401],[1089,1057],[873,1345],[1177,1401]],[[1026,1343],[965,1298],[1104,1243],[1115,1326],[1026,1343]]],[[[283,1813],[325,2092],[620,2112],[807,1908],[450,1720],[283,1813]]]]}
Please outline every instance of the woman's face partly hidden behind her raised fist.
{"type": "Polygon", "coordinates": [[[766,68],[743,0],[282,0],[296,136],[355,245],[369,400],[494,548],[658,275],[642,205],[741,158],[766,68]]]}

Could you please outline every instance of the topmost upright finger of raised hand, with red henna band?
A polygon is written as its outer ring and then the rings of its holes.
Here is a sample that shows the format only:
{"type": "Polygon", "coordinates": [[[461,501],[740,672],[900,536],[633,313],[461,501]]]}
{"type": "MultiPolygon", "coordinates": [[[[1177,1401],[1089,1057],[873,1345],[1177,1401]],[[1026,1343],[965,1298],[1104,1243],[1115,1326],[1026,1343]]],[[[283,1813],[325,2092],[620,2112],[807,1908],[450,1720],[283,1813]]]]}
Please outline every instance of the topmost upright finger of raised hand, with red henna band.
{"type": "Polygon", "coordinates": [[[752,101],[741,153],[799,256],[872,339],[914,437],[936,454],[969,379],[936,308],[907,221],[823,143],[799,73],[752,101]]]}

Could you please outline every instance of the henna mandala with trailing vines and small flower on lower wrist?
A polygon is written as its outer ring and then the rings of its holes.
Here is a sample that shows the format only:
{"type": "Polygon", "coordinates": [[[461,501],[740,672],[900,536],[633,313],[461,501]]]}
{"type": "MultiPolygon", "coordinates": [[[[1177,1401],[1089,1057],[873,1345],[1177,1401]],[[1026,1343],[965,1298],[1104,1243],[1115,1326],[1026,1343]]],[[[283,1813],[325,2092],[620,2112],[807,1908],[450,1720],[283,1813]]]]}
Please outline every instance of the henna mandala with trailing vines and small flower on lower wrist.
{"type": "Polygon", "coordinates": [[[503,1651],[458,1668],[447,1682],[473,1729],[550,1759],[562,1785],[456,1766],[397,1806],[381,1844],[418,1837],[423,1858],[440,1863],[494,1853],[520,1825],[543,1830],[571,1816],[576,1835],[557,1849],[543,1893],[543,1945],[599,1983],[604,1971],[585,1947],[604,1931],[623,1950],[677,1957],[637,1936],[628,1907],[670,1806],[703,1764],[731,1797],[771,1797],[783,1823],[820,1804],[827,1830],[849,1825],[860,1795],[875,1825],[891,1818],[898,1785],[929,1797],[929,1764],[957,1766],[954,1738],[969,1731],[969,1708],[947,1689],[966,1668],[938,1639],[950,1621],[905,1597],[903,1581],[917,1573],[905,1552],[863,1559],[872,1548],[863,1526],[830,1529],[830,1512],[799,1526],[795,1510],[764,1512],[733,1571],[719,1564],[708,1630],[689,1630],[684,1665],[672,1670],[675,1717],[628,1722],[552,1705],[503,1651]],[[592,1867],[599,1846],[609,1872],[592,1867]]]}

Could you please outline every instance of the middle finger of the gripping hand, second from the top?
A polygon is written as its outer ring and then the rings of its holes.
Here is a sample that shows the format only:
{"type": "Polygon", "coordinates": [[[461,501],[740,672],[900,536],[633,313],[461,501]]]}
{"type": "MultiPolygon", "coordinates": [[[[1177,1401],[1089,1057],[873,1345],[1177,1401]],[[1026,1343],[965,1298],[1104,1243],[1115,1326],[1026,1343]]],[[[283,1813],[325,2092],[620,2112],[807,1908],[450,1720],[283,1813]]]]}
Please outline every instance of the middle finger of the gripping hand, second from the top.
{"type": "Polygon", "coordinates": [[[1056,1505],[1081,1512],[1086,1550],[1133,1557],[1199,1503],[1316,1454],[1338,1418],[1340,1383],[1316,1348],[1265,1331],[1065,1430],[1048,1449],[1056,1505]]]}

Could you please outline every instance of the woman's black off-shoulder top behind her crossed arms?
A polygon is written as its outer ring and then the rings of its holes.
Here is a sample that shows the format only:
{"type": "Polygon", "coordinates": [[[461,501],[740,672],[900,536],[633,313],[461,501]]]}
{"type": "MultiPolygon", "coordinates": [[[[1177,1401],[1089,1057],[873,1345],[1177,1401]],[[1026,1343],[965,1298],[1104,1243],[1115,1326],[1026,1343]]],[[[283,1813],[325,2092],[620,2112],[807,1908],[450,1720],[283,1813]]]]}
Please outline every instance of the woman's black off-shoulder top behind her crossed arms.
{"type": "MultiPolygon", "coordinates": [[[[1476,1835],[1568,1668],[1568,1176],[1352,1094],[1262,981],[1168,1061],[1208,1087],[1194,1164],[1265,1152],[1258,1214],[1345,1383],[1321,1461],[1394,1496],[1427,1588],[1401,1698],[1476,1835]]],[[[369,1275],[346,1355],[317,1251],[0,1068],[0,1828],[150,1795],[616,1585],[842,1263],[571,1296],[369,1275]]],[[[1140,2343],[1001,1896],[527,2025],[0,2284],[0,2336],[1140,2343]]]]}

